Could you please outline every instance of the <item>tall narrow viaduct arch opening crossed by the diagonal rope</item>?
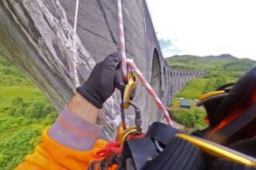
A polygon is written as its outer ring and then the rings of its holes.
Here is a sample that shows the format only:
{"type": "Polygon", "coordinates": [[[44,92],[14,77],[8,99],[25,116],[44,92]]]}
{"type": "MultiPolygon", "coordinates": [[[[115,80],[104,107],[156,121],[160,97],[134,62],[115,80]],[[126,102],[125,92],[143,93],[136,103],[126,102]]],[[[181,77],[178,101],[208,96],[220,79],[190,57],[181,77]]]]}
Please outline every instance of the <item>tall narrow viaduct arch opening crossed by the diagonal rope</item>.
{"type": "MultiPolygon", "coordinates": [[[[151,63],[151,79],[150,85],[154,89],[157,96],[161,94],[161,64],[157,49],[153,51],[152,63],[151,63]]],[[[159,96],[161,97],[161,96],[159,96]]],[[[149,121],[150,123],[154,121],[161,121],[161,111],[158,109],[157,105],[154,104],[154,99],[150,97],[150,110],[149,110],[149,121]]]]}

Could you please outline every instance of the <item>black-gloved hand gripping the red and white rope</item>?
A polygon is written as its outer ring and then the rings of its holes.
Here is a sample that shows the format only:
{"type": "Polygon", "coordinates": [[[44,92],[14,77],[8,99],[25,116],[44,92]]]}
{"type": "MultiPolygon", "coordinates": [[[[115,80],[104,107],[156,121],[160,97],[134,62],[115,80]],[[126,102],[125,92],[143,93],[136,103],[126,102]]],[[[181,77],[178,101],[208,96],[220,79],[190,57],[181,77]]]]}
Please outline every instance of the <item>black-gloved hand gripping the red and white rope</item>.
{"type": "Polygon", "coordinates": [[[120,90],[123,83],[120,57],[117,52],[110,54],[102,62],[97,63],[91,75],[77,91],[95,107],[102,108],[102,104],[112,95],[115,88],[120,90]]]}

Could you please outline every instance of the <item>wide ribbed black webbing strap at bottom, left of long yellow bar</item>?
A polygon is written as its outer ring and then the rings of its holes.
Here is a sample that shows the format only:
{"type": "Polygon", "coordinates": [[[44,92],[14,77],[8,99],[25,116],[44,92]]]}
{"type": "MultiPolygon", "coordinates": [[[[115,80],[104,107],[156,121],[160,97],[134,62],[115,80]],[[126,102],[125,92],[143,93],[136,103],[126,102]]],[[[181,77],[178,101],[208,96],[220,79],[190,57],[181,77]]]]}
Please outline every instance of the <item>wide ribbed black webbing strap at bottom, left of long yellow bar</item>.
{"type": "Polygon", "coordinates": [[[189,141],[175,137],[144,169],[203,169],[206,158],[203,155],[203,152],[189,141]]]}

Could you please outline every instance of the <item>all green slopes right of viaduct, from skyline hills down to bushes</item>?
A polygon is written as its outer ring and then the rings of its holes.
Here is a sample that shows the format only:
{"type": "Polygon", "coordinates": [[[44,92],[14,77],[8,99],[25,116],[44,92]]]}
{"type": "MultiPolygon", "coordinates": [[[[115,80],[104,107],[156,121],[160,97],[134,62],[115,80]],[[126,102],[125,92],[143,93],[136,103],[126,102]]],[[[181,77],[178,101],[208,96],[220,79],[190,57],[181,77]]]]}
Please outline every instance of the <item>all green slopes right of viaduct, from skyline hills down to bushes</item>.
{"type": "MultiPolygon", "coordinates": [[[[216,90],[224,83],[235,82],[242,74],[249,70],[256,62],[251,59],[237,59],[234,56],[223,54],[220,56],[173,56],[166,59],[168,64],[178,70],[206,71],[208,74],[186,83],[175,97],[198,99],[202,93],[216,90]]],[[[179,108],[181,101],[171,100],[169,108],[175,121],[191,129],[207,127],[204,121],[206,111],[192,104],[190,110],[179,108]]]]}

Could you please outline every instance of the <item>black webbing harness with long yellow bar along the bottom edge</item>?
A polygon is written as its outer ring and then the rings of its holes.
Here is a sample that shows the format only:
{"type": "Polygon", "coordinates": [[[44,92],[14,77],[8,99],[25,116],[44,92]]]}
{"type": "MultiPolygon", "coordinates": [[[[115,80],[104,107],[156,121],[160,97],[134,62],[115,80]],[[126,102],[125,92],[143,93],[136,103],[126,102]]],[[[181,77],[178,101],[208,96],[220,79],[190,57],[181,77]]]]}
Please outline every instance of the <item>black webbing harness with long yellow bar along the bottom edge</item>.
{"type": "MultiPolygon", "coordinates": [[[[251,156],[202,138],[182,134],[161,122],[151,124],[144,138],[125,141],[121,168],[131,166],[130,159],[134,169],[208,169],[207,165],[222,159],[226,160],[223,165],[239,167],[233,169],[241,169],[241,166],[243,169],[256,168],[256,160],[251,156]],[[159,151],[154,141],[161,145],[163,151],[159,151]]],[[[215,166],[215,169],[221,168],[215,166]]]]}

